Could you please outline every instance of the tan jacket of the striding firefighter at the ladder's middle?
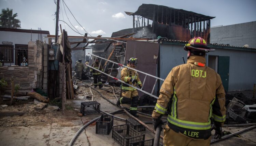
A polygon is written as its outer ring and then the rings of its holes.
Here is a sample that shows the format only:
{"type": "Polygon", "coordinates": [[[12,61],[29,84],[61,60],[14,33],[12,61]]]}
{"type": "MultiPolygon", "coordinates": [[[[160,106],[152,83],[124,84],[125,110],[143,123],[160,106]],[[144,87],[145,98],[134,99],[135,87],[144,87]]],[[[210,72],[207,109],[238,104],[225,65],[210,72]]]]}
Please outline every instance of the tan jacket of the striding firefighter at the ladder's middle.
{"type": "MultiPolygon", "coordinates": [[[[127,66],[130,67],[129,65],[127,65],[127,66]]],[[[123,68],[122,71],[121,71],[121,80],[126,82],[126,83],[128,83],[128,84],[130,84],[130,85],[132,85],[131,80],[135,78],[135,75],[136,75],[136,71],[134,71],[132,69],[128,69],[128,68],[123,68]]],[[[141,84],[141,81],[140,81],[138,73],[136,75],[136,82],[137,83],[135,83],[133,86],[139,85],[140,87],[142,87],[142,84],[141,84]]],[[[131,92],[132,91],[136,91],[137,92],[137,89],[132,88],[132,87],[126,85],[126,84],[122,84],[122,90],[123,91],[131,91],[131,92]]],[[[137,92],[137,95],[138,95],[138,92],[137,92]]],[[[137,96],[137,95],[135,95],[135,93],[133,93],[133,96],[137,96]]],[[[129,96],[127,95],[125,97],[130,98],[129,96]]]]}

